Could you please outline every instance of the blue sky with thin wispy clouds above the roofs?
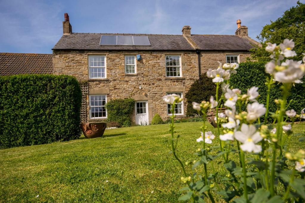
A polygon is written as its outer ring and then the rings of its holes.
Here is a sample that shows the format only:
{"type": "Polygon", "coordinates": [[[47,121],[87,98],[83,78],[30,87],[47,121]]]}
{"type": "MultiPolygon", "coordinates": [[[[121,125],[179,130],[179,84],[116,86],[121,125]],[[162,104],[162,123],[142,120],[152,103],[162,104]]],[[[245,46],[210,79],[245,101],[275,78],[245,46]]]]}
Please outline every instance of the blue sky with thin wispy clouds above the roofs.
{"type": "MultiPolygon", "coordinates": [[[[301,0],[305,2],[305,0],[301,0]]],[[[67,12],[73,32],[234,34],[236,20],[256,39],[296,0],[0,0],[0,52],[52,53],[67,12]]]]}

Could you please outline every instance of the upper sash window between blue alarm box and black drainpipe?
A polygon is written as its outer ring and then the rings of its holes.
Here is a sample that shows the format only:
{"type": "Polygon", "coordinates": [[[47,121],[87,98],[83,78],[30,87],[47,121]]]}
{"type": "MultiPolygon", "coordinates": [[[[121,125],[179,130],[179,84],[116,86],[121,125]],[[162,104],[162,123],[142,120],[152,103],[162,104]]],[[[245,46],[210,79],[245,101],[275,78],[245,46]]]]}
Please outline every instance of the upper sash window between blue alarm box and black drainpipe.
{"type": "Polygon", "coordinates": [[[166,56],[166,77],[181,77],[180,56],[166,56]]]}

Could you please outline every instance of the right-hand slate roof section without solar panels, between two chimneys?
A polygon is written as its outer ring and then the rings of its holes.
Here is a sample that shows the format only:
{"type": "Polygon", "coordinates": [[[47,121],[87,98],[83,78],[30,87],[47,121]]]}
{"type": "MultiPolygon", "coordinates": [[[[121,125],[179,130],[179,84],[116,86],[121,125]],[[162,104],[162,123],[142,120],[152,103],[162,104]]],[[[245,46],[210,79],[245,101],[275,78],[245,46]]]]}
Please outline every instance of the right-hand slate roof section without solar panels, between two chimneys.
{"type": "Polygon", "coordinates": [[[249,50],[253,43],[237,35],[191,35],[200,50],[249,50]]]}

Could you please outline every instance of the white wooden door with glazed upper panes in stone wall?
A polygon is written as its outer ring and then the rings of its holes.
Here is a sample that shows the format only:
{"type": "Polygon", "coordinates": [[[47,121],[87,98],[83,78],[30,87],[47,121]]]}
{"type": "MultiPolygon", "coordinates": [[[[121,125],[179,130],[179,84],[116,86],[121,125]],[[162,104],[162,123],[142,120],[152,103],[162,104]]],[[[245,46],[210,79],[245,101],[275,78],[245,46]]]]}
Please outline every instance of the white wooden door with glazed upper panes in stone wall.
{"type": "Polygon", "coordinates": [[[135,102],[135,122],[139,125],[148,125],[147,100],[135,102]]]}

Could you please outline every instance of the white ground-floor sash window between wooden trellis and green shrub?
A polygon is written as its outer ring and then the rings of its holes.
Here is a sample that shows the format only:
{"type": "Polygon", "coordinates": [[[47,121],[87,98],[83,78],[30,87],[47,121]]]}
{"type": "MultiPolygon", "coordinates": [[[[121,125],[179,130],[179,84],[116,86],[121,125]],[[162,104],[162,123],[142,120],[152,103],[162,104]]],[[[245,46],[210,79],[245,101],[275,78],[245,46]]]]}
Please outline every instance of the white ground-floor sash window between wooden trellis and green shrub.
{"type": "Polygon", "coordinates": [[[107,95],[89,95],[90,118],[106,118],[107,95]]]}

